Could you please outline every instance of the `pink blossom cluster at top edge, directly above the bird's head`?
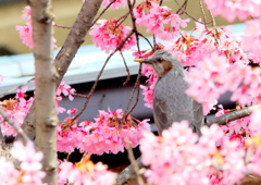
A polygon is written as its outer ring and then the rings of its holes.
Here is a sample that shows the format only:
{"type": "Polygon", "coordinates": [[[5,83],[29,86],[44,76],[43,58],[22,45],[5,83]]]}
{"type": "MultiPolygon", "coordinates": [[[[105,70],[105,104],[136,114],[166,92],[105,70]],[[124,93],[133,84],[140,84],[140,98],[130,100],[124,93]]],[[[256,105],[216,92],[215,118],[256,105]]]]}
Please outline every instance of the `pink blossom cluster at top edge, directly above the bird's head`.
{"type": "Polygon", "coordinates": [[[154,34],[162,40],[174,39],[181,27],[187,27],[189,20],[182,20],[167,7],[161,7],[152,1],[144,1],[134,9],[136,24],[146,26],[147,33],[154,34]]]}

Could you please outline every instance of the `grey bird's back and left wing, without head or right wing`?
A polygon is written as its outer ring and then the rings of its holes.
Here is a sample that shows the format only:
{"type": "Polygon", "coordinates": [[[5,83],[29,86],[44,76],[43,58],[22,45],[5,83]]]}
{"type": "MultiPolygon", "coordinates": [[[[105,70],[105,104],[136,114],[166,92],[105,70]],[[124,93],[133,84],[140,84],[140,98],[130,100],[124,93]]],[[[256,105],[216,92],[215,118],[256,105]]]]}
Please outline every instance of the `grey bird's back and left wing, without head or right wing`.
{"type": "Polygon", "coordinates": [[[173,122],[187,120],[192,123],[192,99],[185,94],[187,84],[182,76],[175,76],[175,81],[162,78],[158,82],[153,96],[153,115],[159,134],[173,122]]]}

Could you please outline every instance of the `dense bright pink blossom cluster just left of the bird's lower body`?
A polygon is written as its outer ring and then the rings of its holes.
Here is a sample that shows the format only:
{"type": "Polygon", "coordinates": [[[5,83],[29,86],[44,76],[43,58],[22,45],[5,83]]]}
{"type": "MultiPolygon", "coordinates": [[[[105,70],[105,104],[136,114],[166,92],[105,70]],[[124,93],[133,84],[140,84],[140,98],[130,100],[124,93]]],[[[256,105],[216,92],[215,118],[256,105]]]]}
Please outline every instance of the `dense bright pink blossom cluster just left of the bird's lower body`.
{"type": "Polygon", "coordinates": [[[77,148],[80,152],[102,155],[104,152],[117,153],[124,151],[124,147],[136,147],[141,139],[141,133],[149,131],[148,121],[138,121],[128,115],[123,119],[124,112],[121,109],[116,111],[99,111],[99,116],[95,123],[79,123],[82,130],[86,132],[82,143],[77,148]]]}

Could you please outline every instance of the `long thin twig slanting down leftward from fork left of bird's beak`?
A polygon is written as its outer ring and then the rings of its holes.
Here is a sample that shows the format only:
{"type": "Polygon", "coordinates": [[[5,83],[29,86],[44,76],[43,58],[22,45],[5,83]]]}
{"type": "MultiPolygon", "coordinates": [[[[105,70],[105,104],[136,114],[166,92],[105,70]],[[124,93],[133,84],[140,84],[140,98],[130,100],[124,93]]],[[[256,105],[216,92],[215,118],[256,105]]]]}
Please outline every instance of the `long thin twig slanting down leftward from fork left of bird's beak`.
{"type": "Polygon", "coordinates": [[[114,49],[114,51],[107,58],[104,64],[102,65],[100,72],[99,72],[99,74],[98,74],[98,76],[97,76],[97,78],[96,78],[95,84],[92,85],[89,94],[88,94],[87,97],[86,97],[86,101],[85,101],[84,108],[80,110],[80,112],[79,112],[77,115],[75,115],[75,118],[72,120],[72,122],[75,121],[75,120],[85,111],[85,109],[87,108],[87,106],[88,106],[88,103],[89,103],[89,100],[90,100],[90,97],[92,96],[92,94],[94,94],[94,91],[95,91],[95,89],[96,89],[96,87],[97,87],[97,85],[98,85],[98,82],[99,82],[99,79],[100,79],[100,77],[101,77],[101,74],[103,73],[103,71],[104,71],[104,69],[105,69],[105,65],[108,64],[108,62],[109,62],[109,60],[111,59],[111,57],[112,57],[116,51],[121,50],[121,48],[123,47],[123,45],[126,42],[126,40],[127,40],[133,34],[134,34],[134,32],[130,32],[130,33],[127,35],[127,37],[121,42],[121,45],[119,45],[119,46],[116,47],[116,49],[114,49]]]}

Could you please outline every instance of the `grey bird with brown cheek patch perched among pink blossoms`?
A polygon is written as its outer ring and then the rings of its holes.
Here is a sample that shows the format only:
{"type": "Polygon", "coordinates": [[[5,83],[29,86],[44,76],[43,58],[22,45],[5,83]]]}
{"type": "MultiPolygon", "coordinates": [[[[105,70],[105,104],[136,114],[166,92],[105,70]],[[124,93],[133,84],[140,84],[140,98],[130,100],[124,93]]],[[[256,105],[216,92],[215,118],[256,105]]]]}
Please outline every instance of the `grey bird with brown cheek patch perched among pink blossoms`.
{"type": "Polygon", "coordinates": [[[152,66],[158,76],[153,92],[153,119],[159,135],[173,122],[188,121],[189,127],[199,136],[204,123],[202,104],[189,97],[181,61],[165,49],[154,51],[149,58],[136,62],[152,66]]]}

